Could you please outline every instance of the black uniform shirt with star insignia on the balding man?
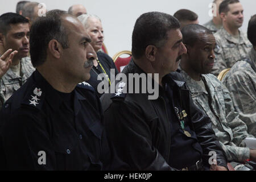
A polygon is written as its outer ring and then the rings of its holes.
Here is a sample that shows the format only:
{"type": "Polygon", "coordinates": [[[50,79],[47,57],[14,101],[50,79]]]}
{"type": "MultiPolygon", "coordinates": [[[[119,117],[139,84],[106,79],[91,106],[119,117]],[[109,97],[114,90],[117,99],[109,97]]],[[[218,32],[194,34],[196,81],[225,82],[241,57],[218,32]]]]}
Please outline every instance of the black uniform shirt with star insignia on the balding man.
{"type": "Polygon", "coordinates": [[[92,86],[60,93],[35,71],[0,114],[0,169],[100,170],[109,147],[92,86]]]}

